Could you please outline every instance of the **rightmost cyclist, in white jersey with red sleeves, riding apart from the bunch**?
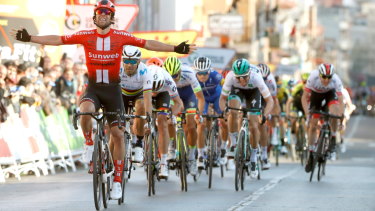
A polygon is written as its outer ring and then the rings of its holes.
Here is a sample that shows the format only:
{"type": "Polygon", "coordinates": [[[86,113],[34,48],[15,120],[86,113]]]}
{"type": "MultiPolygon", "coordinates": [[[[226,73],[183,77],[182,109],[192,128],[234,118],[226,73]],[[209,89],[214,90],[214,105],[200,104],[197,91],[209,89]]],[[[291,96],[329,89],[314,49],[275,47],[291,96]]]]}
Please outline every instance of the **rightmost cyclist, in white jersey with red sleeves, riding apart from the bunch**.
{"type": "MultiPolygon", "coordinates": [[[[305,92],[302,95],[302,106],[306,117],[310,117],[311,110],[329,110],[329,113],[340,116],[343,112],[343,86],[337,74],[334,73],[332,64],[320,64],[317,70],[313,70],[307,80],[305,92]],[[324,104],[323,104],[324,103],[324,104]]],[[[313,115],[308,124],[309,160],[305,171],[310,172],[312,168],[312,151],[317,138],[317,126],[319,115],[313,115]]],[[[329,151],[331,158],[335,159],[336,131],[338,120],[331,119],[332,137],[329,151]]]]}

